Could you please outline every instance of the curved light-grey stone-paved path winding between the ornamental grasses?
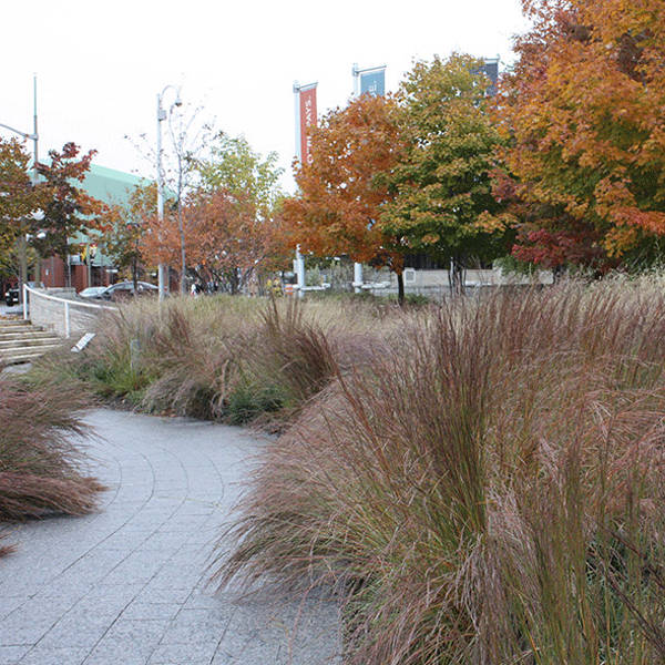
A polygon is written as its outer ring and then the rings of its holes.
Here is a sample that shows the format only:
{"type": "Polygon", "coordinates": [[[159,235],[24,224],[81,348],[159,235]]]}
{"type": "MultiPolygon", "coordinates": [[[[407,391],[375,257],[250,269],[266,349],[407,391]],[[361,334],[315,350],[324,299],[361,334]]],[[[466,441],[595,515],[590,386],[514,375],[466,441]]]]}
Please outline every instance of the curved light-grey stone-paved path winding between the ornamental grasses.
{"type": "Polygon", "coordinates": [[[99,512],[11,528],[2,665],[339,663],[334,604],[213,595],[206,562],[260,443],[244,430],[110,410],[88,417],[99,512]]]}

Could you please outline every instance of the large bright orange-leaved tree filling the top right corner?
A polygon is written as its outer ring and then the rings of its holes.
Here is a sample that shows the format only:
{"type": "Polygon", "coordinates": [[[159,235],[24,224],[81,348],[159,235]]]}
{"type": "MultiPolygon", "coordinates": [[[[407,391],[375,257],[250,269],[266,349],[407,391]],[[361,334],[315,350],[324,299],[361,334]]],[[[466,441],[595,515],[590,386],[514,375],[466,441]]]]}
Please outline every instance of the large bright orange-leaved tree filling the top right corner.
{"type": "Polygon", "coordinates": [[[533,27],[497,110],[513,253],[602,270],[665,233],[665,4],[522,3],[533,27]]]}

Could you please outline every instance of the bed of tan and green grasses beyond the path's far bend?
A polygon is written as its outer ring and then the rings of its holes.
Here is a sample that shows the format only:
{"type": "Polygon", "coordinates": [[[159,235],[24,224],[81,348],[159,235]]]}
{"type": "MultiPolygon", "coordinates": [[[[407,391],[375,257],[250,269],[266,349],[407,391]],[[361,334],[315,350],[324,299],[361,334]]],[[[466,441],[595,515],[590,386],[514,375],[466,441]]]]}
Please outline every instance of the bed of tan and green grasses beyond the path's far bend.
{"type": "Polygon", "coordinates": [[[68,372],[149,412],[280,427],[338,366],[362,362],[383,316],[354,303],[340,317],[337,304],[293,299],[137,300],[106,314],[84,354],[35,371],[68,372]]]}

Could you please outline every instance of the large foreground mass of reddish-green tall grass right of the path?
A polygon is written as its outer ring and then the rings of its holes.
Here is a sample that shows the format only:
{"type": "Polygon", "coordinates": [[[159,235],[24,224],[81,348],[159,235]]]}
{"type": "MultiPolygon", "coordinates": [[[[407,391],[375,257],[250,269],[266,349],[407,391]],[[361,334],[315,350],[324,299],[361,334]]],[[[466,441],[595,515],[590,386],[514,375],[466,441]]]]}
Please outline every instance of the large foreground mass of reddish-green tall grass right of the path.
{"type": "Polygon", "coordinates": [[[215,579],[332,585],[350,664],[665,662],[661,289],[402,326],[268,446],[215,579]]]}

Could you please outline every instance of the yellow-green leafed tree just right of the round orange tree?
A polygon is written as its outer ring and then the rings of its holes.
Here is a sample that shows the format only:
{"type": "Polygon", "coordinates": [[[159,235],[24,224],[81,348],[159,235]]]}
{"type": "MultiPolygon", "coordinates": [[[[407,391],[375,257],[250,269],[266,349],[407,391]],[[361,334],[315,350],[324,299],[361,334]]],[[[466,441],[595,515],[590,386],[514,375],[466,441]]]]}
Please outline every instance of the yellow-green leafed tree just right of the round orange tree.
{"type": "Polygon", "coordinates": [[[488,112],[490,80],[468,55],[417,62],[397,96],[403,154],[387,182],[392,198],[381,228],[401,236],[412,253],[451,265],[463,285],[470,260],[505,254],[504,233],[488,221],[500,209],[490,173],[500,136],[488,112]]]}

